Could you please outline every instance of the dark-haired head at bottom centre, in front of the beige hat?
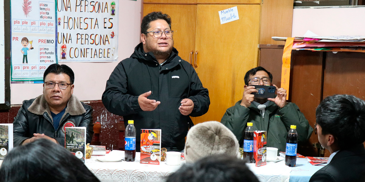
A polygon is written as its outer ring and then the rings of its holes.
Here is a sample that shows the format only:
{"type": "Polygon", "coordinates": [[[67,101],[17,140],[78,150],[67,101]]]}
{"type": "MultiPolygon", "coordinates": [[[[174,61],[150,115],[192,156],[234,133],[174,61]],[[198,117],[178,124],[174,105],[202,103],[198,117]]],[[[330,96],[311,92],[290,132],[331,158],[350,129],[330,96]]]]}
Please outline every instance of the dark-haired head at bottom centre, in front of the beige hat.
{"type": "Polygon", "coordinates": [[[242,159],[220,154],[186,163],[166,182],[258,182],[258,179],[242,159]]]}

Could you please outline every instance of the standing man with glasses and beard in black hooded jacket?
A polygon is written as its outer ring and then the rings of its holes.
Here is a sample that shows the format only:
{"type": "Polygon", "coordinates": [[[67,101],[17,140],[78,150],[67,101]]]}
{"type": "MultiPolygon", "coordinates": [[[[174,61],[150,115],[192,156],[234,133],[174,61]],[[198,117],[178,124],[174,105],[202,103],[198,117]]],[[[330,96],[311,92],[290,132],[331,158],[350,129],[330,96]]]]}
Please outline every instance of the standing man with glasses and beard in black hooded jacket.
{"type": "MultiPolygon", "coordinates": [[[[152,12],[143,17],[141,40],[131,57],[122,60],[111,73],[103,104],[125,121],[134,120],[137,133],[146,128],[161,129],[162,147],[181,151],[193,125],[190,116],[208,111],[208,89],[173,47],[169,15],[152,12]]],[[[140,138],[137,135],[137,149],[140,138]]]]}

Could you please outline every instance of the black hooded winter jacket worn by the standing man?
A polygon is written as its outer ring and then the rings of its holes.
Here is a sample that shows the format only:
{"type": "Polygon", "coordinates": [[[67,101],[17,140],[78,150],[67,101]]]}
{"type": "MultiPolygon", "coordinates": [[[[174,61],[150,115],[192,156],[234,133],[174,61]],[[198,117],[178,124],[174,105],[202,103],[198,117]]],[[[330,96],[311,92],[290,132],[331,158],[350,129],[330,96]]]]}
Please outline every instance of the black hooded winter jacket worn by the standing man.
{"type": "Polygon", "coordinates": [[[108,111],[134,120],[137,129],[137,151],[141,129],[161,129],[161,143],[169,151],[181,151],[185,137],[193,125],[189,116],[178,110],[181,100],[188,98],[194,103],[190,116],[196,117],[208,111],[210,100],[194,68],[178,56],[175,48],[160,66],[152,52],[145,53],[142,43],[135,47],[130,58],[122,60],[107,81],[103,103],[108,111]],[[152,91],[148,99],[160,101],[154,111],[142,111],[138,96],[152,91]]]}

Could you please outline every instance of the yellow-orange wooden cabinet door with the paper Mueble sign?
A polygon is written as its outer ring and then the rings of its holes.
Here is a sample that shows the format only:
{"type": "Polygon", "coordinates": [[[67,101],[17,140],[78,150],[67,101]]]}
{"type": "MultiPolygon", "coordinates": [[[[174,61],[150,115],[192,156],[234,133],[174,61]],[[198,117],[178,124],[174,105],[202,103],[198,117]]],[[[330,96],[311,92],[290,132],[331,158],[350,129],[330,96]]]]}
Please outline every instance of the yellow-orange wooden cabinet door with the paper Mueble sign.
{"type": "Polygon", "coordinates": [[[209,90],[211,104],[207,114],[192,118],[194,123],[220,121],[226,109],[242,99],[246,71],[257,66],[260,5],[239,4],[240,19],[220,24],[218,11],[230,7],[197,5],[195,70],[209,90]]]}

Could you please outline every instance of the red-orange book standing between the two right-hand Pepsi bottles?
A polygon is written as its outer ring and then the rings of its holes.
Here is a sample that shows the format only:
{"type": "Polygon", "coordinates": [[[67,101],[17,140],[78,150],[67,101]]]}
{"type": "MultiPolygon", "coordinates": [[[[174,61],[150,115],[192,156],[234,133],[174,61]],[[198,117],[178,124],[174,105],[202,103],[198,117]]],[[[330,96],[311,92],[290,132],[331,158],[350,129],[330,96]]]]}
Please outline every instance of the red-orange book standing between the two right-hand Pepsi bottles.
{"type": "Polygon", "coordinates": [[[253,146],[255,166],[266,165],[266,131],[254,131],[253,146]]]}

